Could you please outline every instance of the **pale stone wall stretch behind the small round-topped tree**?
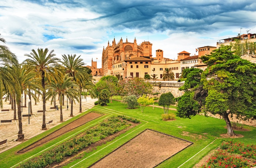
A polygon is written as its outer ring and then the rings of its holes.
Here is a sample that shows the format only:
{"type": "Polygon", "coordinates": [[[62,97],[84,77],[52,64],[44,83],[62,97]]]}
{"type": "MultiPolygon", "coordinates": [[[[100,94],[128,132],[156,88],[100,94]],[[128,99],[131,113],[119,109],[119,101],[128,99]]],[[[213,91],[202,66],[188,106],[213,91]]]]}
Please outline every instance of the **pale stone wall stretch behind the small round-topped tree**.
{"type": "MultiPolygon", "coordinates": [[[[153,84],[153,81],[150,81],[153,84]]],[[[160,97],[162,93],[171,92],[174,98],[180,97],[184,94],[184,91],[179,91],[179,88],[184,85],[184,82],[177,81],[155,81],[154,82],[154,93],[160,93],[155,95],[160,97]]]]}

